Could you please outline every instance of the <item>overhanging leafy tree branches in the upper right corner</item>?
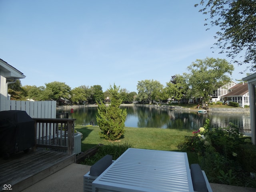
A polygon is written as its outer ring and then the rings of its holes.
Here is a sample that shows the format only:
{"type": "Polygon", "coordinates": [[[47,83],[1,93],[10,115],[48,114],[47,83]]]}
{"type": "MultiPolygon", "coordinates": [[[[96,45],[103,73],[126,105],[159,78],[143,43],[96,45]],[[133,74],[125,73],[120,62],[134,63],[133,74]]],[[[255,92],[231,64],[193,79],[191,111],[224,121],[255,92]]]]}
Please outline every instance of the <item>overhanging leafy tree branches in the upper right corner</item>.
{"type": "MultiPolygon", "coordinates": [[[[220,26],[215,45],[238,65],[256,70],[255,0],[201,0],[200,12],[209,14],[211,26],[220,26]],[[240,59],[242,58],[242,60],[240,59]]],[[[195,6],[198,6],[196,4],[195,6]]],[[[205,25],[208,25],[206,23],[205,25]]]]}

